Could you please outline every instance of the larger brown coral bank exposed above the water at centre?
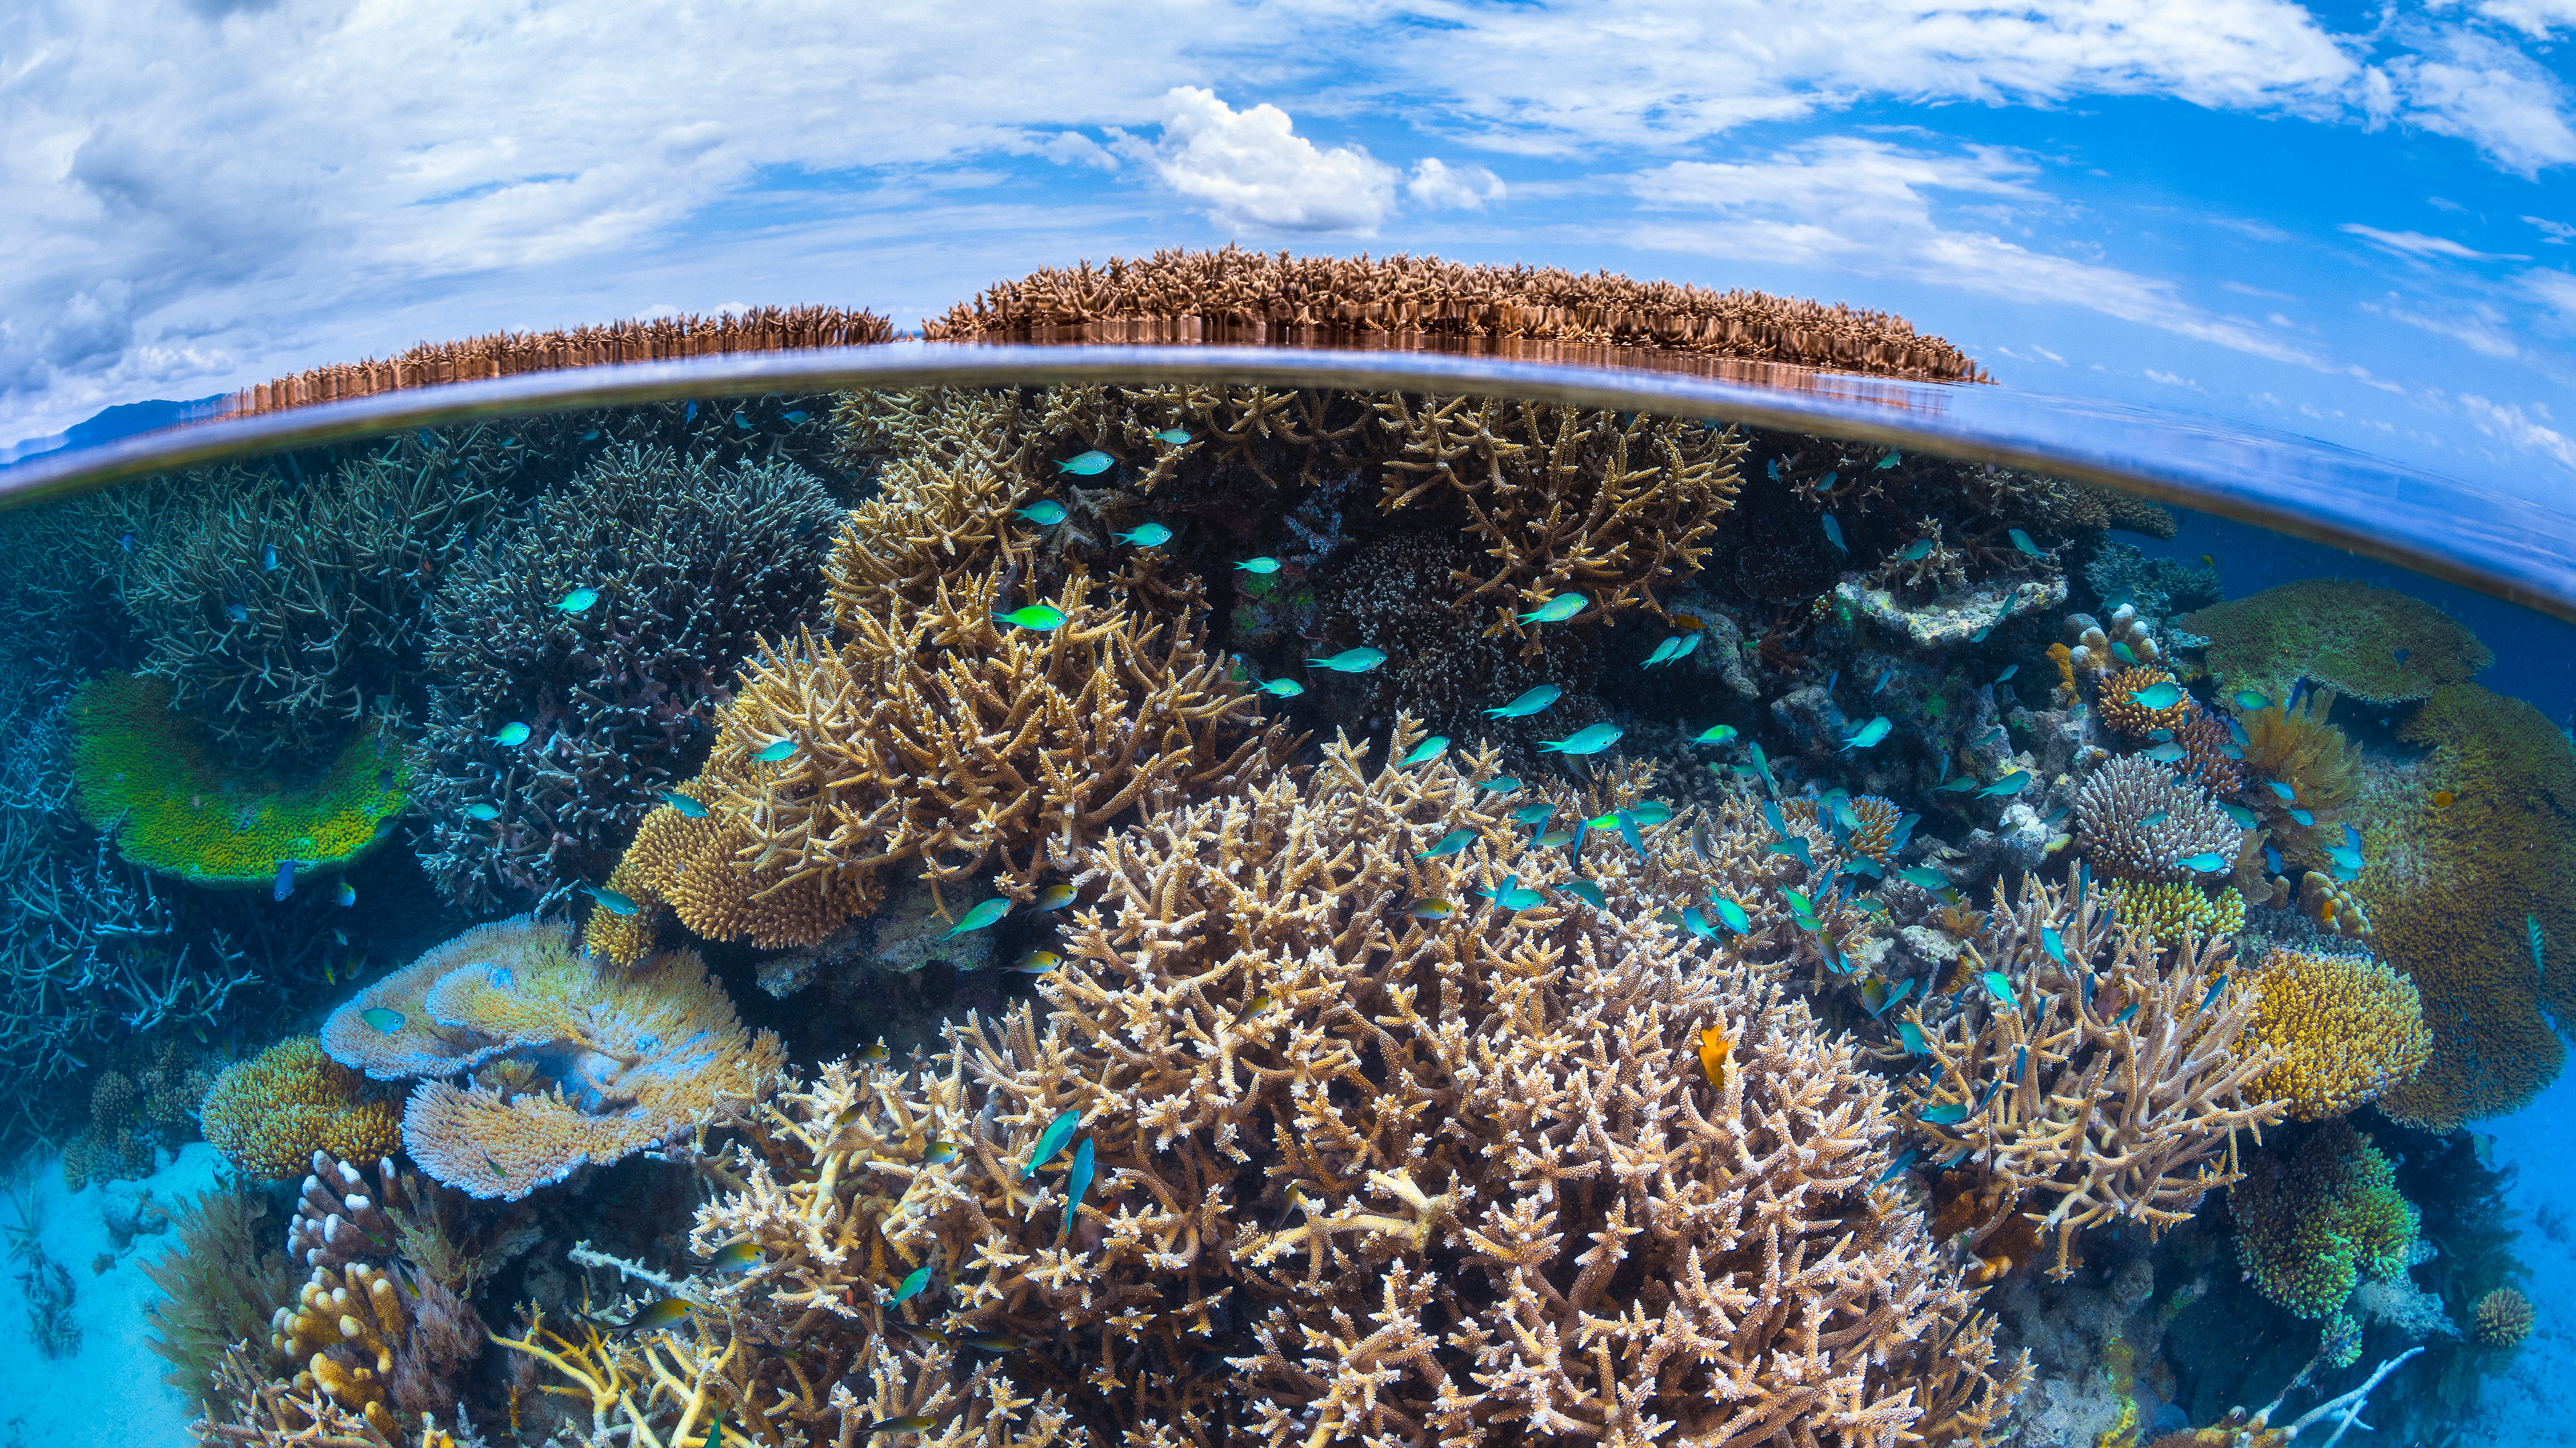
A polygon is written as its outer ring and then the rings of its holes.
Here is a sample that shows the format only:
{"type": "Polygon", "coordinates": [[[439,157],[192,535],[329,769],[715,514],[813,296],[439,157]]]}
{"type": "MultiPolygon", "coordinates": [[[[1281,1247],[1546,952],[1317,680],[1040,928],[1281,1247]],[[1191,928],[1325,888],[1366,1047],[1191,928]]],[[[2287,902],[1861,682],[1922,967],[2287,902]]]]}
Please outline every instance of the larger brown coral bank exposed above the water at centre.
{"type": "Polygon", "coordinates": [[[1159,250],[997,281],[933,317],[930,340],[1172,343],[1481,338],[1628,345],[1927,381],[1981,381],[1958,348],[1901,317],[1700,291],[1618,273],[1461,265],[1440,258],[1293,258],[1159,250]]]}

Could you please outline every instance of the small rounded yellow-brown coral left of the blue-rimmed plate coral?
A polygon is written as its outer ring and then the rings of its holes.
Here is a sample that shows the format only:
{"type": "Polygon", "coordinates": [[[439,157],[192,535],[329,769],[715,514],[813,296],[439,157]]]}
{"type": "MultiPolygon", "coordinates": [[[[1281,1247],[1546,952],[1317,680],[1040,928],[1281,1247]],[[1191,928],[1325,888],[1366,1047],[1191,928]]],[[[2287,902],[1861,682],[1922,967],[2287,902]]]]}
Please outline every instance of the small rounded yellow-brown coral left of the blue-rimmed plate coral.
{"type": "Polygon", "coordinates": [[[374,1162],[397,1144],[394,1103],[322,1054],[312,1036],[289,1036],[234,1062],[206,1090],[206,1141],[263,1180],[294,1180],[314,1152],[374,1162]]]}

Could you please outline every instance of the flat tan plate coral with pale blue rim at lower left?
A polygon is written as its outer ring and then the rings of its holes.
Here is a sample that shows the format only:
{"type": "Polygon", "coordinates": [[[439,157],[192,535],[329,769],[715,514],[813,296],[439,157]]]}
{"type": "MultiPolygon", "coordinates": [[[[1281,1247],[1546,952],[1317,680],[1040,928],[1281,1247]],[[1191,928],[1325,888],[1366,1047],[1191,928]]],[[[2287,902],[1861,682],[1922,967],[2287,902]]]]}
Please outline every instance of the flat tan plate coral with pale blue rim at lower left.
{"type": "Polygon", "coordinates": [[[479,1067],[471,1087],[412,1087],[402,1149],[438,1183],[502,1201],[714,1121],[786,1059],[775,1036],[742,1028],[696,951],[618,969],[574,956],[569,925],[536,920],[428,951],[343,1002],[322,1043],[376,1080],[479,1067]]]}

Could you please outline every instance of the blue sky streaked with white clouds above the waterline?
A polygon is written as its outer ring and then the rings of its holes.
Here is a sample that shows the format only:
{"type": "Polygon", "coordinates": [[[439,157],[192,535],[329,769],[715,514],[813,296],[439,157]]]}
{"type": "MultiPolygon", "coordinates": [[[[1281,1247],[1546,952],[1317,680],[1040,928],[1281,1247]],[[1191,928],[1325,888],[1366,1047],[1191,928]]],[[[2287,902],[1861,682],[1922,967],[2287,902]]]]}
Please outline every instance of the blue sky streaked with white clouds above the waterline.
{"type": "Polygon", "coordinates": [[[428,338],[1167,245],[1893,309],[2576,484],[2576,0],[18,0],[0,438],[428,338]]]}

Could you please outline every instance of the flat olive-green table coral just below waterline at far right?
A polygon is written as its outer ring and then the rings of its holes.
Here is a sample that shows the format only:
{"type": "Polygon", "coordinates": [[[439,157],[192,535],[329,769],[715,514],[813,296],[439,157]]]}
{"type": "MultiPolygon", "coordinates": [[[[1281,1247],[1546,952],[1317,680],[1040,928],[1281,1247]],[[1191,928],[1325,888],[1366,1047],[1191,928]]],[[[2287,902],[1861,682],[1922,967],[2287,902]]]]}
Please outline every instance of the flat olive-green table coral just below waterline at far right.
{"type": "Polygon", "coordinates": [[[2362,703],[2424,698],[2496,662],[2432,603],[2344,577],[2306,577],[2179,618],[2205,636],[2223,691],[2290,698],[2300,678],[2362,703]]]}

